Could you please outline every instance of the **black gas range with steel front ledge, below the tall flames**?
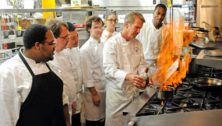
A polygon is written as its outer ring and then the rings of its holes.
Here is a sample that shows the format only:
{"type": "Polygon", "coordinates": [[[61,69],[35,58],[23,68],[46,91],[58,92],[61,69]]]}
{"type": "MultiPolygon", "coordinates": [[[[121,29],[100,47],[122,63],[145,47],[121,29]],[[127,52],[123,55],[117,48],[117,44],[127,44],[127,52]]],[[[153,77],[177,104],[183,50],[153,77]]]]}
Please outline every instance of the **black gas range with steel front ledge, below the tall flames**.
{"type": "Polygon", "coordinates": [[[217,92],[195,88],[194,79],[201,77],[222,79],[222,70],[200,66],[198,74],[188,74],[165,99],[158,97],[155,88],[148,87],[123,110],[124,126],[220,126],[222,88],[217,92]]]}

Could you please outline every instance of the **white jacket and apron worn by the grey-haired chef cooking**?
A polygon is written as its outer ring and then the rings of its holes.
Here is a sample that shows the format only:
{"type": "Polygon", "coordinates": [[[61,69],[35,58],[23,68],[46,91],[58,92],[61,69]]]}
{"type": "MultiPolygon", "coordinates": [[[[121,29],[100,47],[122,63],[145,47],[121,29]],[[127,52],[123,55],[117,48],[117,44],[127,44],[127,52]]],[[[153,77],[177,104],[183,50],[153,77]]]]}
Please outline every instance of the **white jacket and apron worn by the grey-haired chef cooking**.
{"type": "Polygon", "coordinates": [[[136,95],[131,89],[138,89],[126,81],[125,77],[128,73],[136,74],[147,67],[142,44],[137,39],[126,41],[118,33],[105,43],[103,66],[107,80],[106,126],[123,126],[123,108],[136,95]]]}

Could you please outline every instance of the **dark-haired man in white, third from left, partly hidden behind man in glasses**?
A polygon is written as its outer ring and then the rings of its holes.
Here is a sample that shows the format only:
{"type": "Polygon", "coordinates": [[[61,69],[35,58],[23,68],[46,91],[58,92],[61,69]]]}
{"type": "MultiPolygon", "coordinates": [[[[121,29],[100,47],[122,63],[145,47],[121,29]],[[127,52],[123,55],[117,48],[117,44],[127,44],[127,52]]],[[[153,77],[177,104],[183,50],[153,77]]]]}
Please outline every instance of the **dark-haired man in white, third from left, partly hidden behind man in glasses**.
{"type": "Polygon", "coordinates": [[[75,30],[73,23],[67,22],[68,29],[69,29],[69,40],[66,45],[66,48],[63,50],[65,57],[69,60],[71,65],[70,74],[73,75],[73,83],[71,86],[75,86],[75,91],[72,91],[71,88],[68,88],[69,94],[76,94],[71,95],[69,101],[69,111],[71,115],[72,126],[81,126],[81,110],[82,110],[82,67],[81,67],[81,57],[80,57],[80,50],[79,50],[79,39],[78,33],[75,30]],[[72,98],[74,97],[74,99],[72,98]]]}

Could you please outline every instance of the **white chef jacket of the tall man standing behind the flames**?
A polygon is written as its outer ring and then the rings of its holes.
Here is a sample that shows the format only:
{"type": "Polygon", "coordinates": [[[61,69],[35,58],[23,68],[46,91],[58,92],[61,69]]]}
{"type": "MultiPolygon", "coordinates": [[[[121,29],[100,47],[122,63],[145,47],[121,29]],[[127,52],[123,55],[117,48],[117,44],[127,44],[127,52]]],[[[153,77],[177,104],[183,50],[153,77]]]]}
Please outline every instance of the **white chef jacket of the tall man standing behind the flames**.
{"type": "Polygon", "coordinates": [[[137,35],[137,39],[143,45],[144,56],[149,65],[156,63],[162,42],[162,27],[156,29],[152,20],[149,20],[143,24],[137,35]]]}

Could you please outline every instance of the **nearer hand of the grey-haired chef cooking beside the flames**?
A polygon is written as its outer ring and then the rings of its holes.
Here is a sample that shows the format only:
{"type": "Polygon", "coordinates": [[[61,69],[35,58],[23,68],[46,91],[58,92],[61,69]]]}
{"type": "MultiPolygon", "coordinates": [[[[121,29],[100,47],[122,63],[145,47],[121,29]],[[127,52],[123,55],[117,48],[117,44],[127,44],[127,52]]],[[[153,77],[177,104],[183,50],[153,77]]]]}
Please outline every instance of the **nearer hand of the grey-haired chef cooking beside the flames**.
{"type": "Polygon", "coordinates": [[[144,89],[146,88],[146,83],[142,77],[139,75],[129,73],[126,75],[126,80],[130,81],[137,88],[144,89]]]}

